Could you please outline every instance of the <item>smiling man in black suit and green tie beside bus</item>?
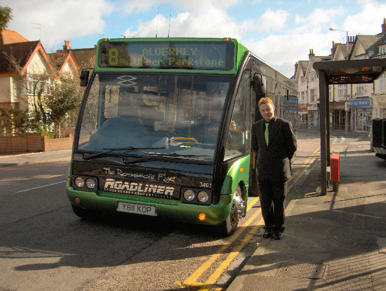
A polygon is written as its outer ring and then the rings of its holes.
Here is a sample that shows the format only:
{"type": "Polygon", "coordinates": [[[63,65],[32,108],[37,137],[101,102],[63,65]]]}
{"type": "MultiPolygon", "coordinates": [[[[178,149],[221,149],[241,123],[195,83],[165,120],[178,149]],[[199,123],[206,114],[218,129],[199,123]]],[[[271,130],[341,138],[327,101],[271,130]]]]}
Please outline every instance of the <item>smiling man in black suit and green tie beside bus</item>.
{"type": "Polygon", "coordinates": [[[265,222],[263,237],[281,239],[291,159],[297,142],[291,123],[274,116],[274,109],[270,98],[258,102],[263,119],[252,126],[251,147],[257,154],[257,188],[265,222]]]}

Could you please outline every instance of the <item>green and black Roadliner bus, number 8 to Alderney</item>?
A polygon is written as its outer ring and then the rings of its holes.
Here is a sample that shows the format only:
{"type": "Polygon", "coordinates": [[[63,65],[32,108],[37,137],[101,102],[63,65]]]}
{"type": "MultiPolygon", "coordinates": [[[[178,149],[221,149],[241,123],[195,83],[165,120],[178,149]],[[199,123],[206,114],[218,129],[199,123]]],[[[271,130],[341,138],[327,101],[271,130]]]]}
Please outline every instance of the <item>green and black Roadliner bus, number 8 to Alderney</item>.
{"type": "Polygon", "coordinates": [[[257,101],[288,97],[289,82],[236,39],[101,39],[95,68],[81,74],[66,182],[74,213],[156,216],[233,233],[248,195],[257,196],[257,101]]]}

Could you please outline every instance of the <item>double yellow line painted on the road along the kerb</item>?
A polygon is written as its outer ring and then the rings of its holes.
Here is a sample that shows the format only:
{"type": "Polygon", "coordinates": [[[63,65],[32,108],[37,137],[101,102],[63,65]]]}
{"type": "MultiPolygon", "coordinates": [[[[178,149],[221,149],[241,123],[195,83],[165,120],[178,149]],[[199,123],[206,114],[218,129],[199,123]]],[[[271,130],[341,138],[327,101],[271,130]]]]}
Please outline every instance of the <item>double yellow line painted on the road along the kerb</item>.
{"type": "MultiPolygon", "coordinates": [[[[307,168],[314,162],[317,158],[317,153],[320,151],[318,147],[317,150],[306,160],[305,167],[303,170],[298,171],[294,175],[295,180],[290,187],[288,187],[288,192],[292,189],[295,183],[303,176],[307,168]]],[[[255,198],[252,203],[250,203],[247,207],[247,212],[251,207],[255,205],[258,197],[255,198]]],[[[198,282],[199,277],[211,267],[222,254],[228,249],[228,247],[237,239],[241,234],[245,231],[245,228],[252,225],[253,221],[261,214],[261,209],[258,209],[242,226],[236,229],[236,232],[230,236],[215,252],[215,254],[211,255],[208,260],[206,260],[198,269],[196,269],[193,274],[184,282],[176,281],[175,284],[180,287],[192,287],[195,290],[199,291],[207,291],[207,290],[222,290],[221,287],[215,285],[217,279],[224,273],[224,271],[229,267],[230,263],[236,258],[236,256],[242,251],[245,245],[251,240],[251,238],[257,233],[259,228],[264,224],[263,218],[260,218],[258,222],[253,225],[253,227],[248,231],[248,233],[243,237],[240,243],[238,243],[233,249],[231,249],[228,256],[220,263],[220,265],[216,268],[216,270],[209,276],[209,278],[204,282],[198,282]]]]}

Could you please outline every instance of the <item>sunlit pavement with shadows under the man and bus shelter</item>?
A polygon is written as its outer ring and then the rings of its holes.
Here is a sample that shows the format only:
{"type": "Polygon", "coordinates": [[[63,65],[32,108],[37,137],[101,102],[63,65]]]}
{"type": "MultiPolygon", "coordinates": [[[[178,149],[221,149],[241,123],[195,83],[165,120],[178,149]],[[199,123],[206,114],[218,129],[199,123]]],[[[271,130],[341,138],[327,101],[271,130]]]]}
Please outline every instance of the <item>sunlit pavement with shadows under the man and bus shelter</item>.
{"type": "Polygon", "coordinates": [[[336,191],[329,185],[321,196],[319,158],[297,193],[288,193],[297,199],[286,207],[284,238],[257,239],[227,291],[386,290],[386,161],[365,134],[332,135],[331,153],[340,152],[336,191]]]}

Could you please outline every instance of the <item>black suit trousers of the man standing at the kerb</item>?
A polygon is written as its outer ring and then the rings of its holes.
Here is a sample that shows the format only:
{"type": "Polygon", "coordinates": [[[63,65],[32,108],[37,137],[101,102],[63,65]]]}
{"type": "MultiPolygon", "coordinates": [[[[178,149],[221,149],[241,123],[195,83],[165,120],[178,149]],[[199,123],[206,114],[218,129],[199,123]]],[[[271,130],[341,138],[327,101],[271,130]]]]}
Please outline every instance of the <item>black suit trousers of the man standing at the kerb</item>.
{"type": "Polygon", "coordinates": [[[261,214],[265,227],[284,231],[288,181],[257,180],[257,188],[260,193],[261,214]]]}

